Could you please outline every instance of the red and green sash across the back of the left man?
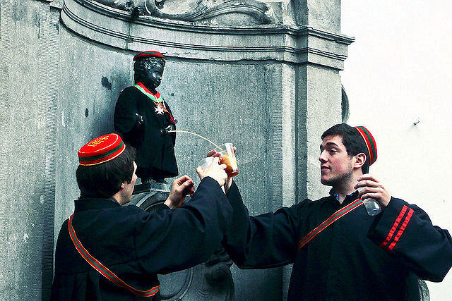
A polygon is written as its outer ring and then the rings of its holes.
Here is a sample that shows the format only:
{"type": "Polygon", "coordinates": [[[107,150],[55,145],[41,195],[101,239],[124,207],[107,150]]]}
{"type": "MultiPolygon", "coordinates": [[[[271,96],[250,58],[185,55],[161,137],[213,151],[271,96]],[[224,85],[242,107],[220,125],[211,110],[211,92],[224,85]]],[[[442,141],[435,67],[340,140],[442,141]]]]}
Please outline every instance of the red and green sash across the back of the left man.
{"type": "Polygon", "coordinates": [[[158,292],[160,285],[150,288],[149,290],[137,290],[136,288],[132,288],[129,284],[122,281],[118,276],[116,276],[112,271],[110,271],[106,266],[104,266],[97,259],[91,256],[91,254],[85,249],[85,247],[83,247],[80,240],[78,240],[76,231],[74,231],[72,227],[72,218],[73,214],[71,215],[71,217],[69,217],[69,236],[71,236],[73,245],[76,247],[78,253],[81,254],[81,257],[83,257],[83,259],[85,259],[86,262],[90,264],[90,266],[93,266],[93,269],[98,271],[102,276],[107,278],[109,281],[112,281],[112,283],[120,286],[121,288],[125,288],[126,290],[129,290],[131,293],[138,295],[140,297],[152,297],[158,292]]]}

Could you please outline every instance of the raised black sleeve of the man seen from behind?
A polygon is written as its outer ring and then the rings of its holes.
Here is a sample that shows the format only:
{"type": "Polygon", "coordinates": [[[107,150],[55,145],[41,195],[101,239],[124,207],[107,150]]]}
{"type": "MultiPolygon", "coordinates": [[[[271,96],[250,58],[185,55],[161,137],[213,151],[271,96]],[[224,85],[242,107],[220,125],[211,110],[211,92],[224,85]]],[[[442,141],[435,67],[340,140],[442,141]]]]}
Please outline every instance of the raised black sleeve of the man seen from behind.
{"type": "Polygon", "coordinates": [[[166,274],[205,262],[220,246],[232,209],[213,178],[204,178],[181,208],[143,212],[136,222],[138,263],[166,274]]]}

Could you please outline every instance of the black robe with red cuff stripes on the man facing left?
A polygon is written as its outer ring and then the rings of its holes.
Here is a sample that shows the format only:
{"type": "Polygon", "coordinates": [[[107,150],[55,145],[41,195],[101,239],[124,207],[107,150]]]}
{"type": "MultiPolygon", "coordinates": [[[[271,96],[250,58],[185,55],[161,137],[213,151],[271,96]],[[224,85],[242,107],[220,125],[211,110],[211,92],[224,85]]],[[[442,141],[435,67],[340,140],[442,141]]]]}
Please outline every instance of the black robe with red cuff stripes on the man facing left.
{"type": "Polygon", "coordinates": [[[419,300],[418,278],[441,281],[451,268],[452,240],[402,199],[391,198],[376,217],[360,206],[299,250],[307,233],[356,198],[304,199],[253,217],[234,188],[225,249],[242,269],[293,263],[288,300],[419,300]]]}

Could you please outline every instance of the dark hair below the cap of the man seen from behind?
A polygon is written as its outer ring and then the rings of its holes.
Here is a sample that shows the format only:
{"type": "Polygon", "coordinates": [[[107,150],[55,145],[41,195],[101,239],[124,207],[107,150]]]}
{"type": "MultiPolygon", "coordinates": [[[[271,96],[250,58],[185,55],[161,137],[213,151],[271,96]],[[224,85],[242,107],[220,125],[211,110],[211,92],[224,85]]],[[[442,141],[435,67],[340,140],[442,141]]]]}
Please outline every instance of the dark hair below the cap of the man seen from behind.
{"type": "Polygon", "coordinates": [[[126,145],[124,152],[110,161],[93,166],[79,165],[76,176],[80,196],[112,197],[124,181],[131,182],[135,155],[135,149],[126,145]]]}

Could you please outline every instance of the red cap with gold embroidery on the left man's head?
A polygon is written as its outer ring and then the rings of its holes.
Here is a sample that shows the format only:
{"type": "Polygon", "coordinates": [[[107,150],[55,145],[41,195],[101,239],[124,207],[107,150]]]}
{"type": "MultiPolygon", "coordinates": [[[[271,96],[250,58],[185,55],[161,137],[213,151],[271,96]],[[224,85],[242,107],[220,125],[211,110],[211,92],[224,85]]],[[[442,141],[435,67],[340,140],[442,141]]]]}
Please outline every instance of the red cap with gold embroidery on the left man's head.
{"type": "Polygon", "coordinates": [[[91,166],[110,161],[124,152],[126,145],[118,134],[95,138],[78,149],[80,165],[91,166]]]}

